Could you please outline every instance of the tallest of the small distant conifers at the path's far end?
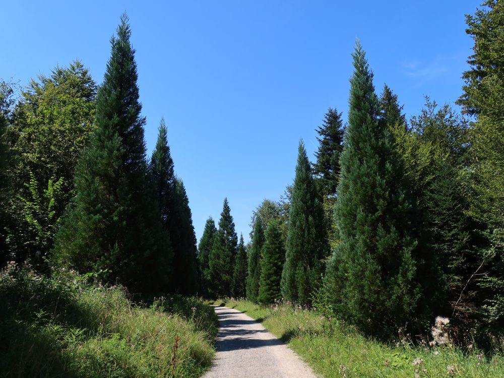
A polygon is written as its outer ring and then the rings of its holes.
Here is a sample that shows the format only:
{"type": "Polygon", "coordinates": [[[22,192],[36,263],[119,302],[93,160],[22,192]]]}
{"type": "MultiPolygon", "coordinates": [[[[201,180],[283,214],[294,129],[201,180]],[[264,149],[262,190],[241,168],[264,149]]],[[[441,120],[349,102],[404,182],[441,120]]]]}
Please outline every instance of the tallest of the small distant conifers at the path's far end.
{"type": "Polygon", "coordinates": [[[214,236],[214,243],[209,256],[210,288],[215,296],[230,296],[234,271],[234,259],[238,237],[234,229],[231,209],[224,199],[219,229],[214,236]]]}

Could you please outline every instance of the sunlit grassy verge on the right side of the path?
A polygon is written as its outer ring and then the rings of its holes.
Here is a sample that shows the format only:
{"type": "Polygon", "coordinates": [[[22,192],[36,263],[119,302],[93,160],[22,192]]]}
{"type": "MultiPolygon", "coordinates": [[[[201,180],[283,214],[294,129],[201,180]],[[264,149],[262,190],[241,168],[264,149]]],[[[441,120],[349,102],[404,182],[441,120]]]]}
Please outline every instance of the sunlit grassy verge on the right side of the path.
{"type": "Polygon", "coordinates": [[[360,335],[355,329],[292,305],[261,306],[248,301],[223,300],[227,307],[257,319],[324,377],[504,376],[504,357],[485,356],[473,348],[389,345],[360,335]]]}

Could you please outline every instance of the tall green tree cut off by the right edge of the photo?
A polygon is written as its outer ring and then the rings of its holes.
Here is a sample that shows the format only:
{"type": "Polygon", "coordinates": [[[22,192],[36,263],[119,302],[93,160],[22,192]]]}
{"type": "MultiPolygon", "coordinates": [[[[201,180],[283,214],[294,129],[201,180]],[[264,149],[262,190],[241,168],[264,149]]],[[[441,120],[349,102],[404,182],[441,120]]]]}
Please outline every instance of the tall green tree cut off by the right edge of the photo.
{"type": "Polygon", "coordinates": [[[483,251],[479,276],[488,323],[504,324],[504,4],[485,1],[474,15],[466,16],[466,32],[474,40],[470,69],[463,74],[464,94],[458,103],[474,115],[470,140],[471,167],[465,177],[470,184],[469,214],[487,225],[489,246],[483,251]]]}

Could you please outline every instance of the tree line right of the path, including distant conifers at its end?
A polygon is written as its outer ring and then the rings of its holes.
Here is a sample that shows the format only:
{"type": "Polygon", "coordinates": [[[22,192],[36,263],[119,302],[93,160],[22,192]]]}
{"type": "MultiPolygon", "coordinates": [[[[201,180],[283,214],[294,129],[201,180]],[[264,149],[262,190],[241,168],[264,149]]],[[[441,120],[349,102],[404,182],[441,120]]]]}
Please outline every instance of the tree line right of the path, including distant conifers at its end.
{"type": "MultiPolygon", "coordinates": [[[[348,120],[329,108],[316,130],[316,162],[301,141],[293,184],[254,212],[247,268],[235,265],[244,289],[215,282],[216,231],[207,221],[199,256],[205,250],[209,260],[200,269],[215,295],[324,307],[377,337],[424,332],[439,315],[459,337],[502,332],[503,7],[486,1],[466,16],[474,53],[457,101],[462,114],[426,97],[407,120],[390,87],[376,93],[357,42],[348,120]]],[[[224,269],[232,280],[232,267],[224,269]]]]}

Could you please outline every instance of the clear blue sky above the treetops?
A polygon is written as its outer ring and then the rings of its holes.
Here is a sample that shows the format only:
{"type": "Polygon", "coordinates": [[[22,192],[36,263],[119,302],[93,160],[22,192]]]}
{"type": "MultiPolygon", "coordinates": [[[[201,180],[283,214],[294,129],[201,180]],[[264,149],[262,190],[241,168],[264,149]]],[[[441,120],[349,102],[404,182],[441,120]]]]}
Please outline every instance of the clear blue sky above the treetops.
{"type": "Polygon", "coordinates": [[[409,116],[424,95],[461,94],[479,1],[2,2],[0,78],[26,85],[76,58],[101,83],[122,12],[137,50],[152,151],[164,116],[198,239],[227,197],[238,234],[264,198],[292,182],[300,138],[308,156],[328,107],[346,113],[359,38],[375,87],[387,83],[409,116]],[[142,4],[141,4],[142,3],[142,4]]]}

